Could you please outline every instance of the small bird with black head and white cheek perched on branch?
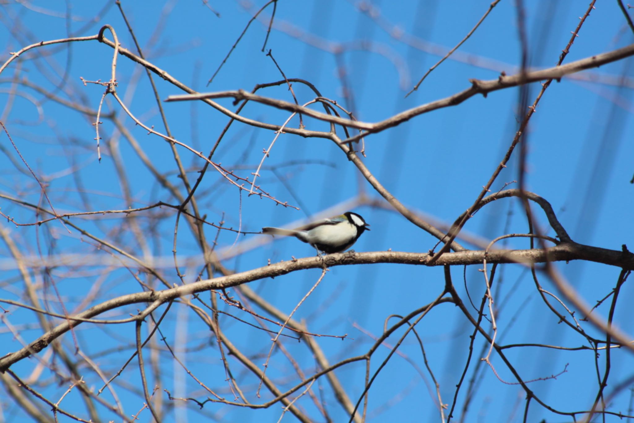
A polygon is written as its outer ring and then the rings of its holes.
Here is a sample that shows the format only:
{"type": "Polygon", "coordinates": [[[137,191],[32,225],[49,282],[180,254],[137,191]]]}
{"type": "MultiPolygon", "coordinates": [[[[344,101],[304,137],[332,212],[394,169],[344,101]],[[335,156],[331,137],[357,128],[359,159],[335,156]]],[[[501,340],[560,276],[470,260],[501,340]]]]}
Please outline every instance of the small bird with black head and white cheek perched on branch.
{"type": "Polygon", "coordinates": [[[321,219],[297,229],[262,228],[262,233],[296,237],[326,254],[340,252],[353,246],[365,230],[370,230],[361,216],[345,212],[330,219],[321,219]]]}

